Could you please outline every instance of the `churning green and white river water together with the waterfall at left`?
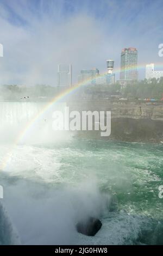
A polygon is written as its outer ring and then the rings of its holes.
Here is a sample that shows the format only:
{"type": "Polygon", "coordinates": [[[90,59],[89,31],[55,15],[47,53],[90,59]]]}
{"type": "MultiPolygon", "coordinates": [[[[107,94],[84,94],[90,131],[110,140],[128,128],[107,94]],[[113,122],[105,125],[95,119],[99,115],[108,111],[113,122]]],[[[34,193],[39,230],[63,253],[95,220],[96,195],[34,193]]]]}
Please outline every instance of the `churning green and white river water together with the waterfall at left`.
{"type": "Polygon", "coordinates": [[[0,244],[162,244],[162,145],[56,136],[42,116],[11,147],[38,109],[1,102],[0,244]],[[102,221],[94,237],[76,231],[85,216],[102,221]]]}

